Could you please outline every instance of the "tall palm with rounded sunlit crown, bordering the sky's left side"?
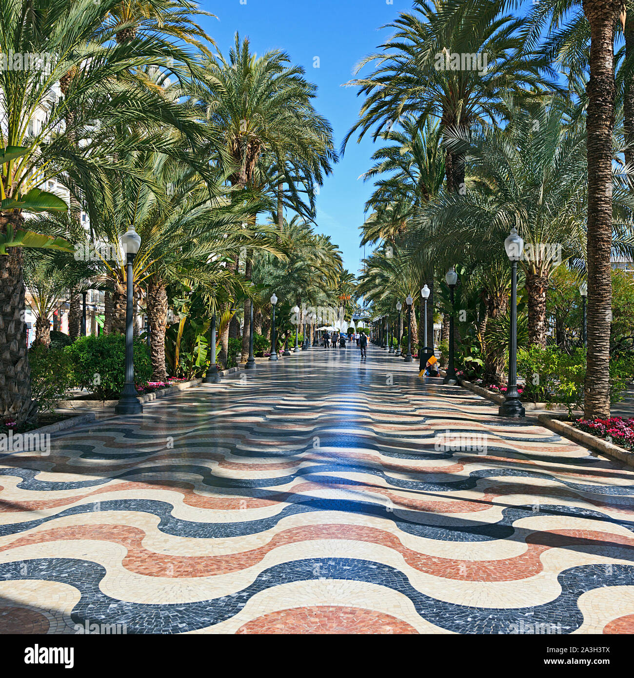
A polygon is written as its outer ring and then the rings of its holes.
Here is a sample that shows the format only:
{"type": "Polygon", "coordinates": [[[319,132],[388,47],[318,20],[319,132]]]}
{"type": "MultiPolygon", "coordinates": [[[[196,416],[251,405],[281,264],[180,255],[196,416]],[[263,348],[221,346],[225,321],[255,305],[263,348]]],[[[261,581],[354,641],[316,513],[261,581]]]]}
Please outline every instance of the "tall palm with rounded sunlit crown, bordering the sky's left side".
{"type": "MultiPolygon", "coordinates": [[[[314,186],[321,184],[336,160],[332,128],[313,107],[315,85],[306,81],[304,69],[290,64],[284,52],[273,50],[258,57],[248,39],[235,35],[235,45],[226,59],[222,54],[203,60],[203,86],[193,88],[193,97],[204,116],[220,131],[231,159],[229,182],[252,197],[262,188],[273,190],[278,228],[283,220],[283,185],[298,212],[298,184],[309,197],[306,216],[313,216],[314,186]],[[264,167],[262,167],[264,164],[264,167]],[[274,167],[273,183],[262,182],[274,167]],[[300,180],[298,181],[298,178],[300,180]]],[[[259,197],[259,196],[258,196],[259,197]]],[[[256,224],[257,214],[247,220],[256,224]]],[[[235,262],[233,268],[237,267],[235,262]]],[[[245,277],[251,275],[246,257],[245,277]]],[[[243,355],[249,334],[249,308],[245,302],[243,355]]],[[[222,333],[223,351],[229,327],[222,333]]]]}

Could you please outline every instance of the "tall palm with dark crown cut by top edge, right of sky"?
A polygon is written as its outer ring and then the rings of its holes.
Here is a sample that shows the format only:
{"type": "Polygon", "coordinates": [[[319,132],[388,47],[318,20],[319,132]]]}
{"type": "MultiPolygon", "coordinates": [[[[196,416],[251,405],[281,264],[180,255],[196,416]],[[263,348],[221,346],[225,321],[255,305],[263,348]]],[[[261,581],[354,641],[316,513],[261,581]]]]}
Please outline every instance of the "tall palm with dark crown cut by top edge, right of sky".
{"type": "MultiPolygon", "coordinates": [[[[412,14],[403,12],[389,24],[395,33],[380,45],[382,51],[357,66],[359,73],[375,64],[368,77],[349,83],[365,101],[343,147],[354,134],[361,140],[370,130],[376,140],[407,115],[435,117],[443,130],[454,132],[508,117],[507,102],[542,85],[548,70],[547,60],[527,49],[523,21],[504,14],[510,4],[415,0],[412,14]]],[[[447,190],[460,191],[464,164],[455,149],[447,151],[445,174],[447,190]]]]}

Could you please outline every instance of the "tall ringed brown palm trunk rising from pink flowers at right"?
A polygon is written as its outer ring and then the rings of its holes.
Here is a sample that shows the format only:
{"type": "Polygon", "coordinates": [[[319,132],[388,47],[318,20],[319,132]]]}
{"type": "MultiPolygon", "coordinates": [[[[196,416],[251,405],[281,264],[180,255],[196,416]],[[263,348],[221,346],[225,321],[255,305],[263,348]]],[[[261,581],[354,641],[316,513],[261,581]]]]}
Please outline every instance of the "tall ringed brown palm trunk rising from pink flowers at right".
{"type": "Polygon", "coordinates": [[[584,0],[590,24],[588,109],[588,306],[586,417],[610,416],[610,313],[612,311],[612,131],[614,129],[614,26],[622,0],[584,0]]]}

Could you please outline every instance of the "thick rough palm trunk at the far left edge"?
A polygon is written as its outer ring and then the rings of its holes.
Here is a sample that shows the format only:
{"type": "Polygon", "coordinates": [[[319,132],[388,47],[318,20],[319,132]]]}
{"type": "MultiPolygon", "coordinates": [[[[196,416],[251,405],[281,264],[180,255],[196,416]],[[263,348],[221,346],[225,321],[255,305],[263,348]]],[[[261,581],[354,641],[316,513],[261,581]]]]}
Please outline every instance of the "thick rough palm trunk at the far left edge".
{"type": "MultiPolygon", "coordinates": [[[[0,214],[0,233],[7,232],[8,223],[22,228],[24,217],[19,212],[0,214]]],[[[9,247],[0,256],[0,415],[18,424],[37,413],[26,351],[22,258],[20,247],[9,247]]]]}

